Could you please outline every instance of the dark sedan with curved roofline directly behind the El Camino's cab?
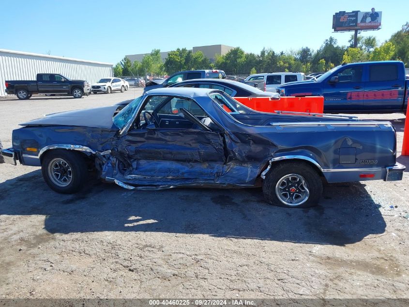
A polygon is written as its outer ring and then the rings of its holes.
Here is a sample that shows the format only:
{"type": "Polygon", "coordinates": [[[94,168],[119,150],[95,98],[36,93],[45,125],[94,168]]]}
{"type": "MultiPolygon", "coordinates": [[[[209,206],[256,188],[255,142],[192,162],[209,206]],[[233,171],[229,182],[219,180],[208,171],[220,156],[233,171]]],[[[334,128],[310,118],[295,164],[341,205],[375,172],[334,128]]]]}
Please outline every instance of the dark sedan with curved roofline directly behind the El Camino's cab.
{"type": "Polygon", "coordinates": [[[231,97],[276,97],[279,94],[274,92],[264,92],[256,87],[238,81],[226,79],[193,79],[178,82],[169,87],[198,87],[221,90],[231,97]]]}

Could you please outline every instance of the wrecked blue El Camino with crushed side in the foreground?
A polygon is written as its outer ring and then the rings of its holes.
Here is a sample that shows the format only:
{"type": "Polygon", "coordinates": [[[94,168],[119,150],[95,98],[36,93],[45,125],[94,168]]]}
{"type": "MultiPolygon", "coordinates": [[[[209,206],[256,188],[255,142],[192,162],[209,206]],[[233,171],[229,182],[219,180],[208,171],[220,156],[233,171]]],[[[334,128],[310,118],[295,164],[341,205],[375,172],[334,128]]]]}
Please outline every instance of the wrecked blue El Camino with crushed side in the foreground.
{"type": "Polygon", "coordinates": [[[389,122],[256,112],[220,90],[163,88],[118,106],[21,124],[5,161],[41,166],[48,186],[75,193],[88,169],[126,189],[262,186],[268,202],[317,205],[322,180],[401,180],[389,122]],[[353,140],[353,142],[351,142],[353,140]]]}

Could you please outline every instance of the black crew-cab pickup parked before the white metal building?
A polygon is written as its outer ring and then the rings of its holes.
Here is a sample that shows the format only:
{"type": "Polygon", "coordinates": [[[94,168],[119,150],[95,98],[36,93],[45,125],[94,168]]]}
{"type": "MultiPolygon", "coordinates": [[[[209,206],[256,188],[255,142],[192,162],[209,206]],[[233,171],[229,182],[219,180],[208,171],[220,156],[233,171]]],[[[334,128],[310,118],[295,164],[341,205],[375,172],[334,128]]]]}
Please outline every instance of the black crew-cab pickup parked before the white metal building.
{"type": "Polygon", "coordinates": [[[18,99],[32,94],[69,94],[81,98],[90,93],[90,84],[84,80],[70,80],[59,74],[37,74],[37,80],[5,81],[6,93],[18,99]]]}

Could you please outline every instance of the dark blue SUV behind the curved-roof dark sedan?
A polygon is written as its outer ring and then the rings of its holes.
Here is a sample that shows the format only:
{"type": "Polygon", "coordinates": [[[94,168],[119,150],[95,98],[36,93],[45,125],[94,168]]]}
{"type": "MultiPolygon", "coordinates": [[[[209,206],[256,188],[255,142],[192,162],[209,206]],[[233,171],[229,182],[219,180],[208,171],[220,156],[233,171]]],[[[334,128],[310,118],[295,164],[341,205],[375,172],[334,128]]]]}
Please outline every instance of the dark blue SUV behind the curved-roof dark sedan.
{"type": "Polygon", "coordinates": [[[186,70],[174,73],[167,79],[151,80],[146,82],[143,92],[154,88],[161,88],[173,85],[177,82],[192,80],[192,79],[226,79],[226,74],[223,70],[186,70]]]}

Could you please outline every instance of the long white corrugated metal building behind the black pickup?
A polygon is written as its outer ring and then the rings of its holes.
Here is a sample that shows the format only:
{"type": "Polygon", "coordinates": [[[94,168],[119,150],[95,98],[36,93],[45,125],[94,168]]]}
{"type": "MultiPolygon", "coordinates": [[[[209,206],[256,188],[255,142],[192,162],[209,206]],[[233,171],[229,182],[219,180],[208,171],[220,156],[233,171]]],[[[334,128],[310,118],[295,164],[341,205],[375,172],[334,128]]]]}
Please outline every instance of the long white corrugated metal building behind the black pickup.
{"type": "Polygon", "coordinates": [[[114,76],[109,63],[0,49],[0,96],[6,95],[4,81],[35,80],[39,73],[61,74],[90,84],[114,76]]]}

